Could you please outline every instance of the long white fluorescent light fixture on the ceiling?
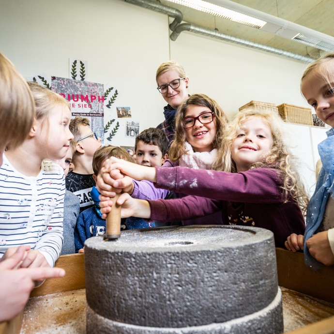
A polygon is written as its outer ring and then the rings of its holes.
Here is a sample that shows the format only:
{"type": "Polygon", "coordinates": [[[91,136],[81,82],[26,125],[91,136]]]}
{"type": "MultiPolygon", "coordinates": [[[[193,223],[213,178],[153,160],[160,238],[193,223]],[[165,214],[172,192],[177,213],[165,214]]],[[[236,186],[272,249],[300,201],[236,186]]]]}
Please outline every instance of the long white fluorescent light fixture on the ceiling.
{"type": "Polygon", "coordinates": [[[230,0],[168,0],[220,16],[325,51],[334,50],[334,37],[230,0]]]}

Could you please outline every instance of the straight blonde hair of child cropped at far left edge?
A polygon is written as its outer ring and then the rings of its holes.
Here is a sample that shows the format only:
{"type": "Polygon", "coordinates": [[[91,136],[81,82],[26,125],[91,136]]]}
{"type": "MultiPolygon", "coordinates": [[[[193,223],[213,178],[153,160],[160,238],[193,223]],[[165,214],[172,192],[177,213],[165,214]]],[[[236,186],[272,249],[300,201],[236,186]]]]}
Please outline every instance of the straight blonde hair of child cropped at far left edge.
{"type": "Polygon", "coordinates": [[[29,134],[35,117],[35,103],[26,80],[0,53],[1,146],[15,149],[29,134]]]}

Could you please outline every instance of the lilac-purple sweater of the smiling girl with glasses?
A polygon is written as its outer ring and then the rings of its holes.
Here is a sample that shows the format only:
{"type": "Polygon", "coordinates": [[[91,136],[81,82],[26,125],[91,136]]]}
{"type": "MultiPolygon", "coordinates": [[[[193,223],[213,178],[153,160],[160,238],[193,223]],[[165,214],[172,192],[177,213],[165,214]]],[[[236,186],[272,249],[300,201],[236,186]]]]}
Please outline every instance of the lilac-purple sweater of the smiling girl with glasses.
{"type": "MultiPolygon", "coordinates": [[[[162,168],[165,169],[165,167],[168,167],[168,170],[170,167],[177,167],[179,166],[178,163],[173,163],[169,159],[166,160],[165,164],[162,166],[162,168]]],[[[168,172],[168,170],[166,172],[168,172]]],[[[133,180],[134,182],[134,190],[131,195],[133,198],[139,198],[139,199],[160,199],[160,198],[165,198],[167,194],[169,193],[168,190],[159,188],[154,184],[153,182],[142,180],[142,181],[136,181],[133,180]]],[[[170,190],[170,189],[169,189],[170,190]]],[[[191,194],[191,193],[186,193],[186,194],[191,194]]],[[[175,196],[177,198],[182,198],[185,197],[185,194],[179,193],[175,191],[175,196]]],[[[181,220],[181,219],[174,219],[174,220],[181,220]]],[[[166,220],[168,221],[168,220],[166,220]]],[[[194,218],[190,220],[185,220],[182,219],[182,225],[222,225],[222,214],[221,212],[214,212],[212,214],[208,213],[206,217],[199,217],[199,218],[194,218]]]]}

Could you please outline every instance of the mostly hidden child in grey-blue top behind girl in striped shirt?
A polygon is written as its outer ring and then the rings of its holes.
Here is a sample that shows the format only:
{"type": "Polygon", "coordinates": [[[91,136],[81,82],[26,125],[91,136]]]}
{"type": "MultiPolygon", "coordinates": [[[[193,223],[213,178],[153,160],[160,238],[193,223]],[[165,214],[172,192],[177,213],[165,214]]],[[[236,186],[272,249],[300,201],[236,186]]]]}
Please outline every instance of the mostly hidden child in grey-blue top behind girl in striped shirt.
{"type": "MultiPolygon", "coordinates": [[[[64,158],[54,160],[53,162],[60,165],[64,170],[65,178],[67,174],[74,169],[72,164],[73,151],[76,149],[76,142],[71,141],[71,145],[64,158]]],[[[64,242],[61,248],[61,255],[74,254],[76,247],[74,244],[74,229],[79,216],[80,200],[72,192],[66,190],[64,197],[64,221],[63,221],[63,238],[64,242]]]]}

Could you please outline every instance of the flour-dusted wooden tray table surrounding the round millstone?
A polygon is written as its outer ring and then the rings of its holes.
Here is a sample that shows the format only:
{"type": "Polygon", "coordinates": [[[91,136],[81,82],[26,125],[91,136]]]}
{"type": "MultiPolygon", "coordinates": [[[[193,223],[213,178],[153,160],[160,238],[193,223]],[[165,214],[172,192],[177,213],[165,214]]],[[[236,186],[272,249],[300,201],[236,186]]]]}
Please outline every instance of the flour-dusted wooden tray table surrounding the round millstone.
{"type": "MultiPolygon", "coordinates": [[[[334,334],[334,267],[314,272],[303,257],[276,248],[284,333],[334,334]]],[[[84,255],[61,256],[56,266],[65,277],[35,288],[24,312],[0,324],[0,334],[86,333],[84,255]]]]}

